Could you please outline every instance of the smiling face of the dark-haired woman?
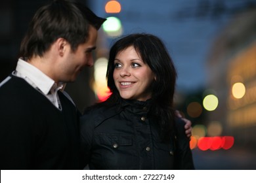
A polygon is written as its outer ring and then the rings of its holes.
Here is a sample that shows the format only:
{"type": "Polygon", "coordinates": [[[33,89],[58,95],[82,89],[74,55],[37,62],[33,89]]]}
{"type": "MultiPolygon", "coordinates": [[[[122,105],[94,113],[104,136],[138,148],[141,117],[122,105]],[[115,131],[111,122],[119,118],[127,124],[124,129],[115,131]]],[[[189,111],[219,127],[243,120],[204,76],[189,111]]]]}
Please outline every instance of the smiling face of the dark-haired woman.
{"type": "Polygon", "coordinates": [[[123,99],[146,101],[152,95],[154,73],[133,46],[118,52],[114,60],[114,82],[123,99]]]}

